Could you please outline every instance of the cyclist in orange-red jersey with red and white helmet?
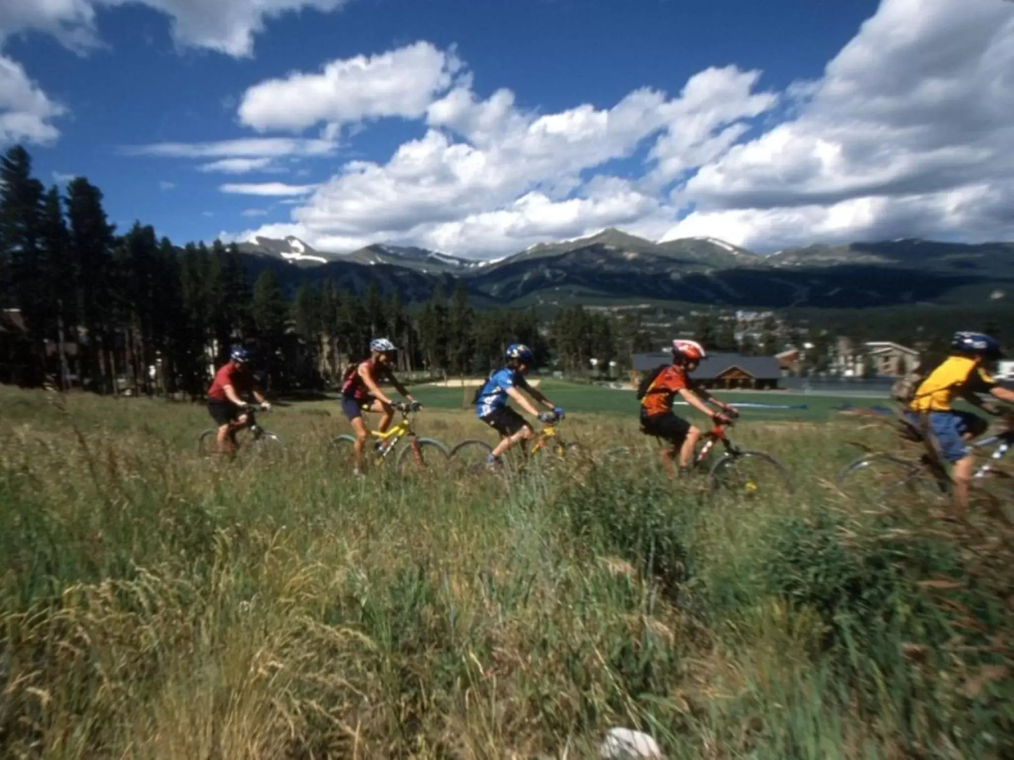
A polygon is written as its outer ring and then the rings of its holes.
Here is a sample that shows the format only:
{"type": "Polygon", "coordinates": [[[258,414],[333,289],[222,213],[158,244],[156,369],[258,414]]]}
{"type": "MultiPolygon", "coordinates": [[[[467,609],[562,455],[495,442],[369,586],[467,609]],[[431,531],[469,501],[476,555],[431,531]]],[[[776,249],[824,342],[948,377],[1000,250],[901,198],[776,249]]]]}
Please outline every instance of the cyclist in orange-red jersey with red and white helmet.
{"type": "Polygon", "coordinates": [[[678,394],[686,403],[707,414],[716,422],[728,423],[729,419],[708,408],[713,403],[723,412],[735,413],[735,409],[722,403],[704,388],[698,388],[690,379],[691,372],[698,368],[705,358],[704,347],[696,340],[672,341],[672,366],[666,367],[655,376],[641,399],[641,431],[656,436],[672,444],[671,449],[662,451],[662,464],[672,477],[672,459],[678,452],[679,473],[691,465],[694,447],[701,440],[701,430],[689,421],[672,413],[672,400],[678,394]]]}

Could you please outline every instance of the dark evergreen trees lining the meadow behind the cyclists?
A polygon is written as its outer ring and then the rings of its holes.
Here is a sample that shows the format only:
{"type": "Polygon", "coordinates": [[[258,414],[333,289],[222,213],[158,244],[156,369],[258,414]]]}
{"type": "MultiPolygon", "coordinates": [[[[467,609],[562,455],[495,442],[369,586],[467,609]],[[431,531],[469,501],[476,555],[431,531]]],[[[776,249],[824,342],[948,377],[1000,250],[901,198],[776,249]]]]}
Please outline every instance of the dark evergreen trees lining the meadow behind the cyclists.
{"type": "MultiPolygon", "coordinates": [[[[462,280],[449,295],[438,286],[404,303],[411,291],[396,279],[320,272],[266,265],[218,240],[179,247],[140,221],[119,232],[86,177],[46,188],[23,149],[0,158],[0,381],[49,376],[65,389],[196,398],[237,344],[256,351],[276,389],[337,384],[378,336],[397,346],[401,371],[451,376],[502,366],[512,343],[529,346],[539,368],[579,375],[629,367],[632,354],[657,348],[636,313],[480,308],[462,280]]],[[[735,350],[732,326],[706,314],[695,334],[735,350]]]]}

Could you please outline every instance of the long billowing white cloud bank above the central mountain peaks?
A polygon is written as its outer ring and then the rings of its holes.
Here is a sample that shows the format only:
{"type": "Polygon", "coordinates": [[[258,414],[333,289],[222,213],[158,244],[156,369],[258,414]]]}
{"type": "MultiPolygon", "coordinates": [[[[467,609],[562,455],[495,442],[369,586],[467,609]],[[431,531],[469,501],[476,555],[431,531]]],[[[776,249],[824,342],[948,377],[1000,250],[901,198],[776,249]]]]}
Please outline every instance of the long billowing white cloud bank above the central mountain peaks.
{"type": "MultiPolygon", "coordinates": [[[[424,136],[385,163],[346,163],[295,208],[292,234],[321,247],[396,240],[482,254],[617,224],[660,234],[675,214],[650,183],[582,175],[684,124],[696,137],[682,149],[700,151],[711,135],[775,104],[752,92],[756,81],[734,67],[708,70],[678,97],[642,88],[610,108],[538,115],[518,108],[508,90],[477,98],[464,77],[430,103],[424,136]]],[[[665,148],[667,158],[678,152],[665,148]]]]}

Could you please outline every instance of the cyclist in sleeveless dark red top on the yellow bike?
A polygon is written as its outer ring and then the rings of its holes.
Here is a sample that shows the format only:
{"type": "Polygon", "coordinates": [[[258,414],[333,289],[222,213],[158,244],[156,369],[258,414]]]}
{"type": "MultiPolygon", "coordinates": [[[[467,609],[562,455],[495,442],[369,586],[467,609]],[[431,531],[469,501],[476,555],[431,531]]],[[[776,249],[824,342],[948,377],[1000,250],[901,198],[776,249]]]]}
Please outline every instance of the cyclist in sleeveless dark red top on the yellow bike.
{"type": "Polygon", "coordinates": [[[363,411],[377,411],[383,414],[377,426],[380,433],[386,432],[394,419],[394,402],[380,390],[379,383],[387,380],[399,393],[412,403],[413,408],[421,408],[419,401],[412,397],[412,394],[405,389],[405,386],[391,372],[395,351],[397,349],[394,348],[394,344],[386,337],[370,340],[370,358],[350,367],[342,382],[342,411],[352,423],[352,428],[356,433],[356,445],[353,447],[352,454],[353,473],[356,475],[359,474],[363,447],[370,435],[366,423],[363,422],[363,411]]]}

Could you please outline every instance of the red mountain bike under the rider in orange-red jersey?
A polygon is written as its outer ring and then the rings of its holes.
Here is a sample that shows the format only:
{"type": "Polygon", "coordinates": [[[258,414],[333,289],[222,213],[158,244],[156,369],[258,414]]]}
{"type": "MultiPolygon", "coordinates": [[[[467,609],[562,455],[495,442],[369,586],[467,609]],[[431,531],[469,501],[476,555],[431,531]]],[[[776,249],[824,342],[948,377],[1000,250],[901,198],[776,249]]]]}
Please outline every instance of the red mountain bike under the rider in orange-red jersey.
{"type": "MultiPolygon", "coordinates": [[[[733,427],[734,417],[727,423],[715,423],[711,430],[701,436],[701,441],[691,460],[689,474],[706,474],[708,492],[712,499],[734,498],[752,499],[758,495],[782,491],[792,493],[795,485],[785,466],[771,454],[754,449],[743,449],[732,442],[728,430],[733,427]],[[710,457],[718,444],[722,453],[714,461],[710,457]]],[[[643,432],[643,429],[642,429],[643,432]]],[[[655,440],[662,446],[671,446],[657,436],[655,440]]],[[[598,457],[599,464],[618,465],[630,461],[638,451],[637,447],[609,449],[598,457]]]]}

